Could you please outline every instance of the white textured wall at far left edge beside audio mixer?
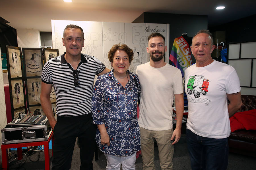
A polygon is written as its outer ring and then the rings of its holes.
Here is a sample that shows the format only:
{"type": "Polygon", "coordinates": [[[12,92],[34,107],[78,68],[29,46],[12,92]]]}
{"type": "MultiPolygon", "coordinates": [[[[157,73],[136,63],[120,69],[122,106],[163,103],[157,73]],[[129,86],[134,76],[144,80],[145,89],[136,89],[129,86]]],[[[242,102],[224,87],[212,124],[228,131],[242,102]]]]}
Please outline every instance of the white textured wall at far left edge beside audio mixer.
{"type": "MultiPolygon", "coordinates": [[[[0,48],[1,59],[1,48],[0,48]]],[[[3,73],[2,62],[0,62],[0,73],[3,73]]],[[[5,90],[3,86],[3,74],[0,74],[0,129],[3,129],[7,124],[6,109],[5,109],[5,90]]],[[[0,140],[2,144],[2,133],[0,133],[0,140]]],[[[0,149],[1,150],[1,149],[0,149]]],[[[2,152],[0,152],[0,163],[2,163],[2,152]]]]}

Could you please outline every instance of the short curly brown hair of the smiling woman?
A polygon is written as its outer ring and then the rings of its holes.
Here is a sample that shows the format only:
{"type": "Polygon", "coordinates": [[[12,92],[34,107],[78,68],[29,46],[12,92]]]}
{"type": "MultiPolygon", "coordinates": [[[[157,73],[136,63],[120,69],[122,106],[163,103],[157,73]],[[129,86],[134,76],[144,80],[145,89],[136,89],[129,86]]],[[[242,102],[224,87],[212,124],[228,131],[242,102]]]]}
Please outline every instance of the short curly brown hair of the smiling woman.
{"type": "Polygon", "coordinates": [[[112,46],[112,48],[108,52],[108,59],[110,63],[113,62],[114,54],[117,50],[124,50],[127,53],[129,57],[129,63],[131,64],[131,61],[133,61],[133,50],[129,48],[126,44],[115,44],[112,46]]]}

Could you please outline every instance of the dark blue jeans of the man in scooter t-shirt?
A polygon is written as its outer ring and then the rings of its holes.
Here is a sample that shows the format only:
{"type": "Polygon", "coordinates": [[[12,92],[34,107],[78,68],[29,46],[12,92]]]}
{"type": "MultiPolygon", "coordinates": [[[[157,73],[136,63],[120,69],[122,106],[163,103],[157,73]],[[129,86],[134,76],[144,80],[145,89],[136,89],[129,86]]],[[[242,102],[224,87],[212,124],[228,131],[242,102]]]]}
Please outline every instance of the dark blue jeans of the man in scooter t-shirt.
{"type": "Polygon", "coordinates": [[[225,170],[228,167],[228,138],[213,139],[187,129],[187,148],[192,170],[225,170]]]}

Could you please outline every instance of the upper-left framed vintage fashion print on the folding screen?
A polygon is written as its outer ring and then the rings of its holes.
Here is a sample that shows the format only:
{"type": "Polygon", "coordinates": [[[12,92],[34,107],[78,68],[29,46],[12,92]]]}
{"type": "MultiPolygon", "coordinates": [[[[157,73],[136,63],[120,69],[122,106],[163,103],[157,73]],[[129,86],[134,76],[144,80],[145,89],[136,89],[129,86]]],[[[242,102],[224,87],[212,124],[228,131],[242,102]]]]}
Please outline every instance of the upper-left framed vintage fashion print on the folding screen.
{"type": "Polygon", "coordinates": [[[22,58],[21,48],[14,46],[7,47],[7,70],[10,73],[9,78],[22,77],[22,58]]]}

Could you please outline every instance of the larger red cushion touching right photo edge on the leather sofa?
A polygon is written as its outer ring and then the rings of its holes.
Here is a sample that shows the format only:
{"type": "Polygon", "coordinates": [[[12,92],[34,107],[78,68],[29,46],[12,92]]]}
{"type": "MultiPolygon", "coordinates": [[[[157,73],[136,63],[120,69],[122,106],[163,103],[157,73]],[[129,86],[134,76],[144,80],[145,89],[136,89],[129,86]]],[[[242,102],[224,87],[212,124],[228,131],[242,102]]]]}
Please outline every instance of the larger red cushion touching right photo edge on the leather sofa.
{"type": "Polygon", "coordinates": [[[240,122],[246,130],[256,130],[256,109],[237,112],[234,117],[240,122]]]}

